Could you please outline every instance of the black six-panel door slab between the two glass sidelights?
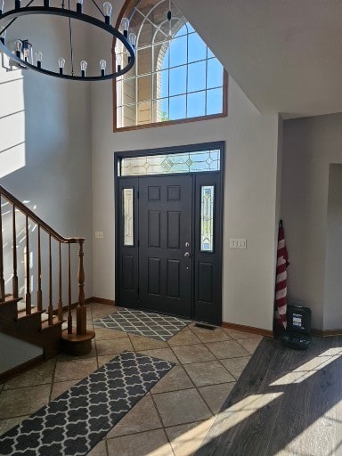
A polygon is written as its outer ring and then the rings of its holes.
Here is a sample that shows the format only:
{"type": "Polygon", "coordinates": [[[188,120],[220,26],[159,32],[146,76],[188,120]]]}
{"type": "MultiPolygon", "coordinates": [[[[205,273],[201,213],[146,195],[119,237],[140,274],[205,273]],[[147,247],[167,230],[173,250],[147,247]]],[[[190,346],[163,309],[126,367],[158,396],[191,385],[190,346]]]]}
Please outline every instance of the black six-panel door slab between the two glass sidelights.
{"type": "Polygon", "coordinates": [[[139,301],[191,317],[192,176],[139,179],[139,301]]]}

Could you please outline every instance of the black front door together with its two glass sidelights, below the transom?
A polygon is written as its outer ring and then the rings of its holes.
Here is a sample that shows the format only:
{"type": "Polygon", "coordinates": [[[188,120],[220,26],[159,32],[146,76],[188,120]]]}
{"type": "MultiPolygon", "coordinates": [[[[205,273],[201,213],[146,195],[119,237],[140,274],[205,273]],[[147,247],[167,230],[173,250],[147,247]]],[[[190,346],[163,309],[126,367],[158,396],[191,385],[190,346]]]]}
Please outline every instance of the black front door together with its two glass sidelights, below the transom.
{"type": "Polygon", "coordinates": [[[123,176],[117,191],[116,304],[220,324],[220,173],[123,176]]]}

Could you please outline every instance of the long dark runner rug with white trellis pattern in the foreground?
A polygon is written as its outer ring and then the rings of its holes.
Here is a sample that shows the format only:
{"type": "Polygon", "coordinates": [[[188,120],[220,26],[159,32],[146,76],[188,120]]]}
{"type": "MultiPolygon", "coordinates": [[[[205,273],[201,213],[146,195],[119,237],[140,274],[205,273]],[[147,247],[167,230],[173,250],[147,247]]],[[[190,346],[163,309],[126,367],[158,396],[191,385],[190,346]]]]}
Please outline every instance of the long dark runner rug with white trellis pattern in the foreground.
{"type": "Polygon", "coordinates": [[[83,456],[175,365],[123,352],[0,436],[0,454],[83,456]]]}

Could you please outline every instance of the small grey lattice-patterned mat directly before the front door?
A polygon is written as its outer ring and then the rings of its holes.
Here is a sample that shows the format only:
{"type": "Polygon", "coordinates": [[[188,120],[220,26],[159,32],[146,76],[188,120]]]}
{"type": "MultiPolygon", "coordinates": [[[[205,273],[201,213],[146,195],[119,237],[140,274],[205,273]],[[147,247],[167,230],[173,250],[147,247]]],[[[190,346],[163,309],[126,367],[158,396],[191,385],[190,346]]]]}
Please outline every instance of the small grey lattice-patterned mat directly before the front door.
{"type": "Polygon", "coordinates": [[[95,320],[94,326],[126,331],[136,336],[165,341],[175,336],[178,331],[189,323],[191,323],[191,320],[184,320],[171,315],[120,308],[115,314],[95,320]]]}

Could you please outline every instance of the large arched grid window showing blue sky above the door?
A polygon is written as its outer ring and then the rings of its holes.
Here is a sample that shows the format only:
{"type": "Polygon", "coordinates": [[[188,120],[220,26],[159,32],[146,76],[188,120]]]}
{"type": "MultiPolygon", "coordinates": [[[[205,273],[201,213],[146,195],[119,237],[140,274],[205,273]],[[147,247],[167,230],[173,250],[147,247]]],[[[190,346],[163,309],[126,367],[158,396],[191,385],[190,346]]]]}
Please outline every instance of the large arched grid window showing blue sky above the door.
{"type": "MultiPolygon", "coordinates": [[[[226,115],[226,73],[171,0],[140,0],[120,14],[136,35],[136,61],[115,86],[114,129],[226,115]]],[[[117,64],[126,54],[116,45],[117,64]]]]}

